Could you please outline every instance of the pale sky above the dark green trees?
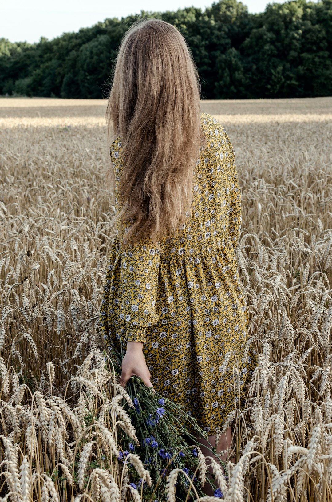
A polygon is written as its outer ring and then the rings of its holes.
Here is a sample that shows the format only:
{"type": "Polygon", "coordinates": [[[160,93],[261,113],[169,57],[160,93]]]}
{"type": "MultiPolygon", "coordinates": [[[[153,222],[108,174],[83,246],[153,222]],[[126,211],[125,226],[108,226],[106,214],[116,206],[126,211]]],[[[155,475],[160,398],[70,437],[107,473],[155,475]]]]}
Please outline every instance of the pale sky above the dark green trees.
{"type": "MultiPolygon", "coordinates": [[[[141,11],[177,11],[185,7],[211,7],[212,0],[3,0],[0,16],[0,38],[11,42],[39,42],[41,37],[52,40],[64,32],[78,32],[106,18],[126,17],[141,11]]],[[[272,0],[243,0],[251,13],[263,12],[272,0]]],[[[278,3],[284,3],[278,1],[278,3]]]]}

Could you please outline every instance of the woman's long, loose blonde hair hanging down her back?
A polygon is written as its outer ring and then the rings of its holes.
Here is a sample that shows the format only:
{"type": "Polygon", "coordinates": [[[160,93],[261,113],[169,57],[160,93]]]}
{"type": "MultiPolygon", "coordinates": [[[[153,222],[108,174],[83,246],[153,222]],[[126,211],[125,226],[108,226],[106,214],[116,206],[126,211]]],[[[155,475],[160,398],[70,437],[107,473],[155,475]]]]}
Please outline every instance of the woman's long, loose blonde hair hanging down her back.
{"type": "MultiPolygon", "coordinates": [[[[205,145],[198,71],[173,25],[140,19],[124,35],[112,72],[108,140],[121,137],[125,158],[117,217],[120,228],[132,222],[122,243],[149,236],[161,250],[160,237],[176,233],[190,214],[193,167],[205,145]]],[[[112,164],[106,186],[114,191],[112,164]]]]}

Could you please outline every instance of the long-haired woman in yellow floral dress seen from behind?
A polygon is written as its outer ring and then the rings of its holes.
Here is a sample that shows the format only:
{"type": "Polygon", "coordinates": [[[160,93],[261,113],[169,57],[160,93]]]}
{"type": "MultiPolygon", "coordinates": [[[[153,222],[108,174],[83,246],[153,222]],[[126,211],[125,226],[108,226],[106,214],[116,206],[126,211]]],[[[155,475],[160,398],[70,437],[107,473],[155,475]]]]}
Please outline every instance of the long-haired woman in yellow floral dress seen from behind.
{"type": "MultiPolygon", "coordinates": [[[[214,445],[216,428],[239,408],[250,362],[234,254],[241,196],[232,146],[200,112],[198,73],[174,26],[158,19],[131,26],[106,116],[117,234],[100,328],[111,350],[120,340],[126,346],[121,385],[139,375],[183,404],[214,445]]],[[[217,451],[230,443],[231,427],[217,451]]]]}

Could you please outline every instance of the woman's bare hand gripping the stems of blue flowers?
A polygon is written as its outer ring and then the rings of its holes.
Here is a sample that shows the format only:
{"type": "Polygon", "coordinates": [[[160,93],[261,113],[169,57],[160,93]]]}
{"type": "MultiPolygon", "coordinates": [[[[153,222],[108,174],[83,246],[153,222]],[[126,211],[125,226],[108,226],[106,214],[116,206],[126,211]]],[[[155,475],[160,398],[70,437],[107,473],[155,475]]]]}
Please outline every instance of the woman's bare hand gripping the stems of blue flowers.
{"type": "Polygon", "coordinates": [[[139,376],[147,387],[153,385],[150,381],[150,371],[143,355],[143,342],[129,341],[127,351],[122,359],[122,372],[119,384],[126,388],[126,384],[132,375],[139,376]]]}

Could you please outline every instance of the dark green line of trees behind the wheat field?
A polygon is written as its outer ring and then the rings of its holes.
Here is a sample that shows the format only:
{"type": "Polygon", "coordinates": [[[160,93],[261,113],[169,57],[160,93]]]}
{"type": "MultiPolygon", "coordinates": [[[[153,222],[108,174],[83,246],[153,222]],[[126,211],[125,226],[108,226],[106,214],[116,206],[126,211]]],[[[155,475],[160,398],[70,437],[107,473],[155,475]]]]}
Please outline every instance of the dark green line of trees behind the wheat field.
{"type": "Polygon", "coordinates": [[[268,4],[250,14],[236,0],[176,12],[107,18],[35,44],[0,39],[0,94],[108,97],[117,48],[137,18],[158,18],[185,37],[202,99],[332,95],[332,0],[268,4]]]}

